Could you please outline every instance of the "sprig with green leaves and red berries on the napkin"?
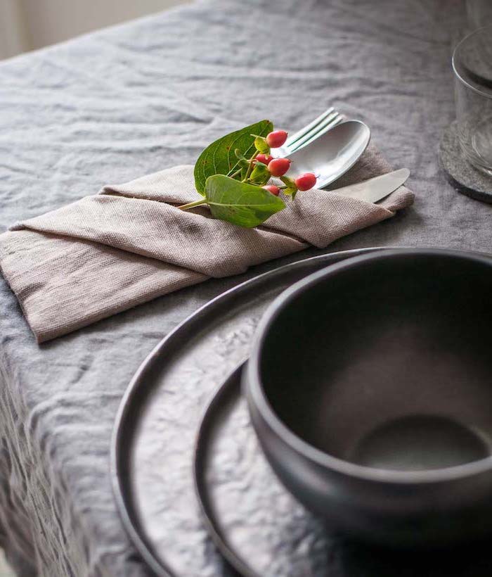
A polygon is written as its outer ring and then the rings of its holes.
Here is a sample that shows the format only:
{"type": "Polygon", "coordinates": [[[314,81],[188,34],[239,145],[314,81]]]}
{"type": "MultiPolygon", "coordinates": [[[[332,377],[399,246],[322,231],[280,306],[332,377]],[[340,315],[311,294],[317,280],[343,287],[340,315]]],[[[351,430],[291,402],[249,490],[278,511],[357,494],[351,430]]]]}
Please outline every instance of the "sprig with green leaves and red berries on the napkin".
{"type": "Polygon", "coordinates": [[[195,163],[195,187],[202,198],[179,208],[207,204],[215,218],[240,227],[265,222],[285,208],[280,190],[293,199],[299,189],[307,190],[297,180],[309,177],[313,184],[308,188],[316,184],[311,173],[295,180],[284,176],[290,160],[271,158],[270,148],[282,146],[286,138],[286,132],[273,131],[270,120],[261,120],[212,142],[195,163]],[[266,186],[272,176],[280,177],[283,186],[266,186]]]}

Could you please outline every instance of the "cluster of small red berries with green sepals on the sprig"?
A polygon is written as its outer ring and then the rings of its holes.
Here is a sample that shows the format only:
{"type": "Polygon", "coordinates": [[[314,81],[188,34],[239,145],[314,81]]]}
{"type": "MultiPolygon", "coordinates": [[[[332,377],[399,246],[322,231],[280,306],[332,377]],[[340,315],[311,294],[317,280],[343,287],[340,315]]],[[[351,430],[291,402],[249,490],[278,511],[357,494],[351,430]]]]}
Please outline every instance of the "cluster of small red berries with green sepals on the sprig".
{"type": "Polygon", "coordinates": [[[289,170],[292,161],[288,158],[273,158],[271,156],[271,148],[280,148],[280,146],[285,144],[287,140],[287,132],[285,130],[273,130],[266,137],[259,137],[256,134],[252,134],[252,136],[255,137],[254,146],[256,152],[250,160],[247,160],[247,163],[250,165],[250,169],[254,167],[254,170],[247,171],[243,182],[257,184],[259,182],[257,177],[261,176],[262,179],[278,177],[282,180],[283,186],[266,184],[262,188],[275,196],[278,196],[282,190],[284,194],[292,197],[295,196],[297,191],[306,191],[316,185],[316,175],[313,175],[312,172],[306,172],[304,175],[299,175],[294,179],[286,177],[285,174],[289,170]]]}

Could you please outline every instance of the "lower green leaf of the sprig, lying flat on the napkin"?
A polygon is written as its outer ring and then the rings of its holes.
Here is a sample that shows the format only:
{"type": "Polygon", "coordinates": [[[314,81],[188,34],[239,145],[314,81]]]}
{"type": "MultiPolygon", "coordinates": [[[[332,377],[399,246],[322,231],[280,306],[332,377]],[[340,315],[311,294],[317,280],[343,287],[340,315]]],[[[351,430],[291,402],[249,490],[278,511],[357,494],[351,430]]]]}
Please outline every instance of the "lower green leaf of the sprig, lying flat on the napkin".
{"type": "Polygon", "coordinates": [[[281,198],[261,186],[238,182],[224,175],[207,178],[205,196],[214,217],[239,227],[257,227],[285,208],[281,198]]]}

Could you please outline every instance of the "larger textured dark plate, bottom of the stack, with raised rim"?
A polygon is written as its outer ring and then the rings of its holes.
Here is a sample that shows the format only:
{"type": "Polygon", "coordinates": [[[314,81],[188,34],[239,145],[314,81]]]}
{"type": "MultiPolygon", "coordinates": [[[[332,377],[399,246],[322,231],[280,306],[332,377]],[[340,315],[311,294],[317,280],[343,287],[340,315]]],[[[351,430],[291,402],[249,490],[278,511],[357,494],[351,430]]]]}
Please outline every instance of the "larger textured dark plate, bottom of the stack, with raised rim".
{"type": "Polygon", "coordinates": [[[233,574],[209,538],[195,497],[193,450],[202,409],[247,359],[273,298],[311,272],[375,250],[300,260],[236,286],[174,329],[138,369],[115,421],[112,486],[124,526],[156,575],[233,574]]]}

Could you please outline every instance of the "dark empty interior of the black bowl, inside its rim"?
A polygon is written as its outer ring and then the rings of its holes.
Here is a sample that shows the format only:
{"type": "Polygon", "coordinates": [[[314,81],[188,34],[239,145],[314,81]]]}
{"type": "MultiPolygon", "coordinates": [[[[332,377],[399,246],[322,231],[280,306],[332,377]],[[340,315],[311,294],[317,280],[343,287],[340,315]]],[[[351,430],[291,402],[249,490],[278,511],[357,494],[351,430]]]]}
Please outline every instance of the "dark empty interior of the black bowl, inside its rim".
{"type": "Polygon", "coordinates": [[[492,266],[371,255],[304,285],[261,342],[261,385],[314,447],[422,471],[492,453],[492,266]]]}

